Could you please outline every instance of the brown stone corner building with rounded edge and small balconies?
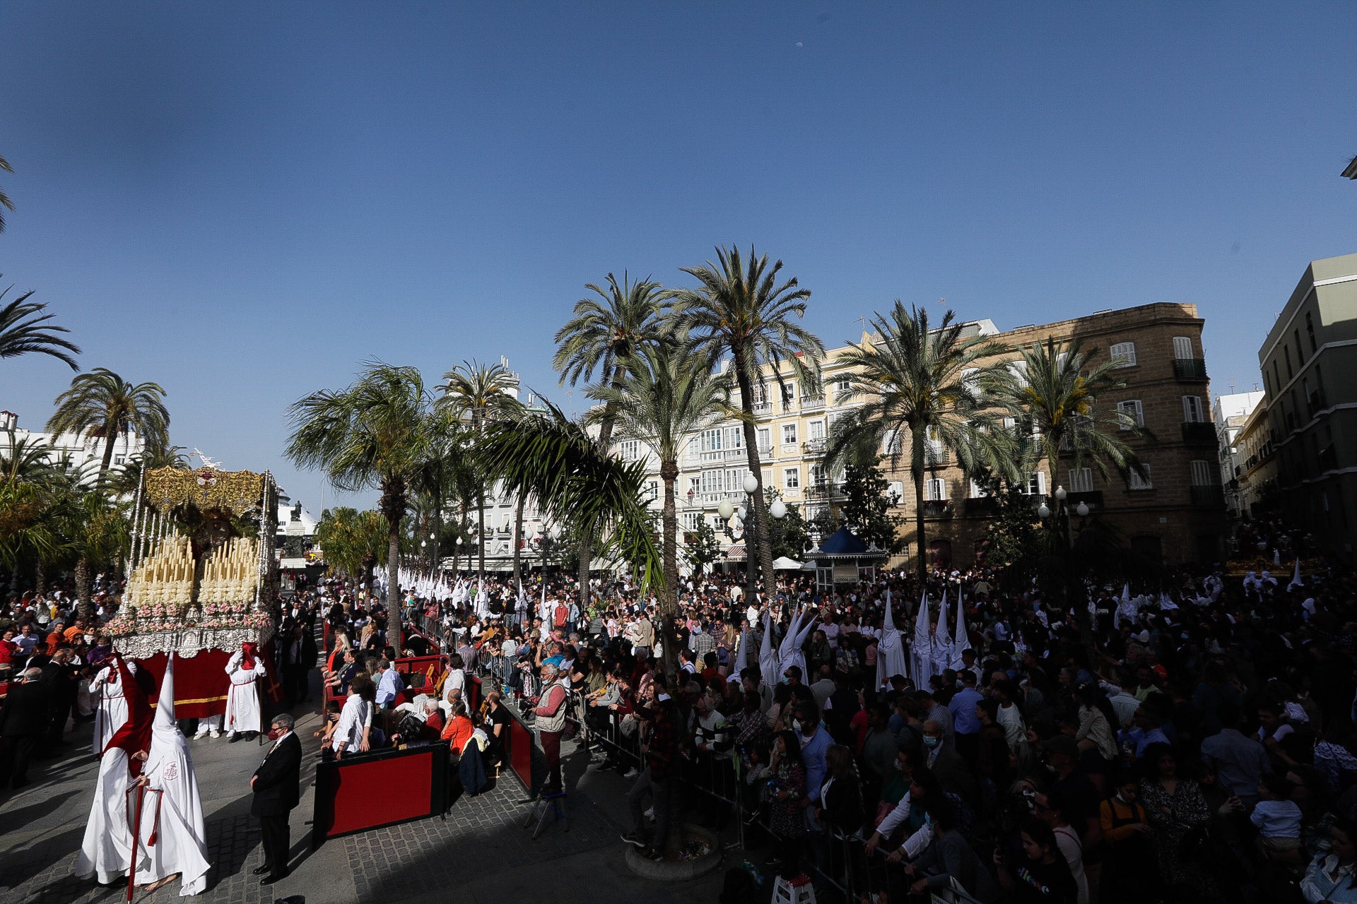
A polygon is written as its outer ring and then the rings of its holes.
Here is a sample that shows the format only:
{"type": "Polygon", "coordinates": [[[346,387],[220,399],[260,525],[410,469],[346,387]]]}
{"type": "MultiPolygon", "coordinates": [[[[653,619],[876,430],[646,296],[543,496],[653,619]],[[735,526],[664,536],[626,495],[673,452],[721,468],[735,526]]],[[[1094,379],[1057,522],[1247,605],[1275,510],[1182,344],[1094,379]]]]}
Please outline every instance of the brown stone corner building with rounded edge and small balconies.
{"type": "MultiPolygon", "coordinates": [[[[1094,361],[1125,358],[1121,369],[1126,388],[1098,404],[1117,405],[1143,423],[1153,442],[1130,440],[1148,466],[1148,480],[1124,481],[1115,473],[1101,480],[1095,469],[1073,469],[1060,461],[1050,474],[1030,474],[1027,492],[1049,496],[1056,487],[1069,493],[1068,504],[1084,501],[1090,518],[1114,525],[1130,546],[1166,564],[1219,561],[1224,554],[1225,508],[1217,461],[1216,428],[1210,423],[1210,381],[1201,344],[1204,320],[1196,305],[1159,302],[1102,310],[1087,317],[1053,324],[1027,325],[989,335],[1016,350],[1048,337],[1080,337],[1094,361]]],[[[900,514],[906,522],[901,535],[908,553],[917,554],[913,525],[913,491],[908,468],[892,474],[904,487],[900,514]]],[[[931,565],[968,567],[982,553],[993,514],[977,487],[943,458],[930,468],[924,487],[924,518],[931,565]]],[[[1037,504],[1035,500],[1033,504],[1037,504]]],[[[1073,516],[1073,530],[1080,519],[1073,516]]]]}

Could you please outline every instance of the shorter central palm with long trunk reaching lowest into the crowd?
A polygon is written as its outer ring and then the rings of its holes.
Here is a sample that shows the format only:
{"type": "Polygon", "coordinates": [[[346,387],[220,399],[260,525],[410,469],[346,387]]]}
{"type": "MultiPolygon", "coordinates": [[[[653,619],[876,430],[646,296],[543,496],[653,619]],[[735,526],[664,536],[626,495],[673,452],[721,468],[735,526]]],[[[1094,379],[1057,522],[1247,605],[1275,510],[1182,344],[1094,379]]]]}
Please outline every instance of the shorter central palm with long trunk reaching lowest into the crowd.
{"type": "Polygon", "coordinates": [[[626,366],[628,375],[623,385],[598,388],[594,397],[604,403],[605,409],[612,409],[619,436],[641,440],[660,459],[660,480],[665,485],[660,625],[665,671],[676,675],[678,638],[673,622],[678,615],[678,514],[674,484],[678,480],[678,455],[688,435],[734,413],[729,407],[730,386],[708,370],[688,366],[680,351],[665,346],[643,347],[626,366]]]}

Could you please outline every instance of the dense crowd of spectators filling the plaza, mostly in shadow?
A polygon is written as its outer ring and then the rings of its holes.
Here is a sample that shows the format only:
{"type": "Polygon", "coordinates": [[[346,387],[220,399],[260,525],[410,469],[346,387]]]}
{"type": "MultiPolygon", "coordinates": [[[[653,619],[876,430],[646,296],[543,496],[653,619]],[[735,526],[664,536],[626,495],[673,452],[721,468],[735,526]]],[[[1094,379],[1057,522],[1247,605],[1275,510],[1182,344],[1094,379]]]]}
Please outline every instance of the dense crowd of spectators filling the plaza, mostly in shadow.
{"type": "MultiPolygon", "coordinates": [[[[323,756],[446,740],[475,794],[516,716],[550,797],[575,737],[628,783],[623,840],[654,859],[680,851],[683,816],[740,820],[750,851],[829,899],[1341,904],[1357,901],[1357,573],[1278,565],[1304,546],[1258,526],[1255,565],[1077,592],[984,568],[833,590],[780,575],[753,598],[741,575],[693,576],[672,619],[624,579],[585,599],[565,576],[475,579],[391,607],[327,580],[284,603],[274,655],[286,703],[320,667],[323,756]],[[965,646],[930,655],[920,625],[935,644],[963,625],[965,646]],[[419,656],[445,667],[396,670],[419,656]]],[[[0,781],[22,786],[30,756],[98,717],[110,653],[68,599],[9,600],[0,781]]]]}

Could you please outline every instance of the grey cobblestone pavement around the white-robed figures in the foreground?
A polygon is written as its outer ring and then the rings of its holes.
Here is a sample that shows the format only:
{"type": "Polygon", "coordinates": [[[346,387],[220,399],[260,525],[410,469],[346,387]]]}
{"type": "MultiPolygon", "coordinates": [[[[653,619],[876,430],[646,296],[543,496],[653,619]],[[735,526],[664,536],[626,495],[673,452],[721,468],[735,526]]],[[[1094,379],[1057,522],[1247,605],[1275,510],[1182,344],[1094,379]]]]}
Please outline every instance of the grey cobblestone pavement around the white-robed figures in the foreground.
{"type": "MultiPolygon", "coordinates": [[[[315,714],[299,714],[307,739],[315,714]]],[[[72,731],[69,735],[77,739],[72,731]]],[[[213,904],[267,904],[289,896],[307,904],[499,904],[505,900],[630,901],[676,904],[714,901],[719,871],[681,885],[657,885],[626,867],[619,835],[624,831],[630,782],[586,770],[588,754],[563,744],[570,792],[569,831],[548,824],[537,840],[524,828],[532,806],[506,770],[495,787],[461,797],[446,821],[438,817],[331,839],[309,850],[313,760],[303,771],[301,805],[293,810],[293,873],[263,886],[251,869],[262,859],[258,825],[250,819],[248,778],[262,752],[255,744],[190,741],[206,815],[212,871],[208,890],[193,899],[213,904]]],[[[34,785],[0,793],[0,895],[23,904],[113,904],[125,886],[99,888],[75,877],[96,777],[95,760],[72,751],[35,767],[34,785]]],[[[168,904],[179,897],[178,880],[153,895],[137,890],[138,904],[168,904]]]]}

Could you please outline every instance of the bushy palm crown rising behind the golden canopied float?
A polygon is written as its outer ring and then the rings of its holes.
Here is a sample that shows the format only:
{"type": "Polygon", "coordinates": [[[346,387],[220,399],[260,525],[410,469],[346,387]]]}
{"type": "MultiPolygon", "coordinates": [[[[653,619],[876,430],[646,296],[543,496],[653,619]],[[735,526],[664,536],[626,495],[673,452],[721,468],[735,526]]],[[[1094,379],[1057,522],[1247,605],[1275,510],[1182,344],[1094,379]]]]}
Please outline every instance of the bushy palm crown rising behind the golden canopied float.
{"type": "Polygon", "coordinates": [[[147,449],[170,445],[170,412],[160,384],[129,384],[107,367],[95,367],[71,381],[71,389],[57,396],[47,431],[103,439],[99,477],[113,462],[113,443],[129,428],[141,434],[147,449]]]}

